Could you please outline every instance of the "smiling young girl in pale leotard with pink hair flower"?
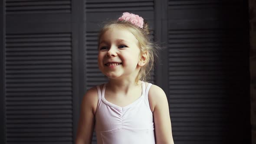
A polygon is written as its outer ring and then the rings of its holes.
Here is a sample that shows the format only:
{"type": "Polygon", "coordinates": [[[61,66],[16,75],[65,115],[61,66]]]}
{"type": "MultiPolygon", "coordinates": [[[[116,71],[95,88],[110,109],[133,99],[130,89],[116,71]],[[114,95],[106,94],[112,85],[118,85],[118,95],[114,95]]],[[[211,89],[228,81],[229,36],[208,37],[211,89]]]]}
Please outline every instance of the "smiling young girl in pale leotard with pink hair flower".
{"type": "Polygon", "coordinates": [[[164,91],[149,78],[156,47],[148,23],[123,13],[98,37],[98,67],[108,83],[83,97],[76,144],[174,144],[164,91]],[[95,126],[95,127],[94,127],[95,126]]]}

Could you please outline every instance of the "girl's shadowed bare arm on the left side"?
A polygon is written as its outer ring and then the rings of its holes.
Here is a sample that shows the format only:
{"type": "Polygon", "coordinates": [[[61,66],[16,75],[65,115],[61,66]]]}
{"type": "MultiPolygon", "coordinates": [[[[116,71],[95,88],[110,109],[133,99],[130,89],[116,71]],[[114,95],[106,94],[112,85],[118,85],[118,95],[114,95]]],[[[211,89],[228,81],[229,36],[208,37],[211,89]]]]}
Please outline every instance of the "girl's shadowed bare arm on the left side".
{"type": "Polygon", "coordinates": [[[89,89],[82,99],[75,144],[91,144],[97,103],[98,93],[94,87],[89,89]]]}

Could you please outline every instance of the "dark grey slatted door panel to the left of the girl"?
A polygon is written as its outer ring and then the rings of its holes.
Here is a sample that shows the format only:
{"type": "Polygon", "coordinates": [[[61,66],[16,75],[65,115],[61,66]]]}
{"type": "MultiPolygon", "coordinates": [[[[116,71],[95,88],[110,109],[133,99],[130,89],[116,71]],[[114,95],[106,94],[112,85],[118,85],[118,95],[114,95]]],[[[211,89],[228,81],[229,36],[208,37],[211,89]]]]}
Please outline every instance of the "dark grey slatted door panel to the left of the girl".
{"type": "Polygon", "coordinates": [[[0,143],[74,143],[83,94],[81,3],[3,3],[5,134],[0,143]]]}

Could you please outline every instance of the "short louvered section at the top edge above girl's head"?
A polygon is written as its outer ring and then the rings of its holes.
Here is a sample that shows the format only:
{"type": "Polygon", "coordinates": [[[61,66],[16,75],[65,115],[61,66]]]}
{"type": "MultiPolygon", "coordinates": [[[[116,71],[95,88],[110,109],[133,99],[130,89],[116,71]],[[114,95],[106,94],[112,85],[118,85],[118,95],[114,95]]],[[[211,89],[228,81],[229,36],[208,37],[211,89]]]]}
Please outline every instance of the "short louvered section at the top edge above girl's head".
{"type": "Polygon", "coordinates": [[[154,9],[153,0],[87,0],[87,13],[124,12],[131,10],[148,11],[154,9]]]}

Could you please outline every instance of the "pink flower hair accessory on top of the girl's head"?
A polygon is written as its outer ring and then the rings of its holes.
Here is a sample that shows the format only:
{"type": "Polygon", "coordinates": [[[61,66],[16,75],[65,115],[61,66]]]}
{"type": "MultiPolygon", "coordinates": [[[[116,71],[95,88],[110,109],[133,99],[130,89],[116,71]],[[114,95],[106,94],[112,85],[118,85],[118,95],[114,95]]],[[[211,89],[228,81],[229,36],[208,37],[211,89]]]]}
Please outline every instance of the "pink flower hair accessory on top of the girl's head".
{"type": "Polygon", "coordinates": [[[135,26],[138,26],[139,28],[143,29],[144,19],[141,16],[138,16],[137,14],[125,12],[121,17],[118,18],[118,20],[129,21],[135,26]]]}

